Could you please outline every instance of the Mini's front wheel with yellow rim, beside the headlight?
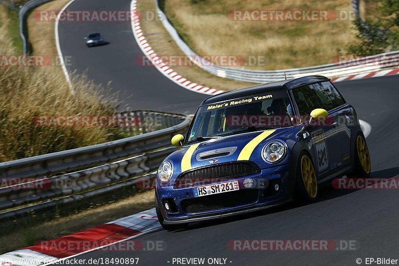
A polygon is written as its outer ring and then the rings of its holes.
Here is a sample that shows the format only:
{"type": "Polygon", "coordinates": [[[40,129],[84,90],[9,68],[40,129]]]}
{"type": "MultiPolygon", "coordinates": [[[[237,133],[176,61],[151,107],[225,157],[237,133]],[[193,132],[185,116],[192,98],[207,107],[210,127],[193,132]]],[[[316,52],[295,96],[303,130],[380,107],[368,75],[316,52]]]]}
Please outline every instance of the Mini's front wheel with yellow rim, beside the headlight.
{"type": "Polygon", "coordinates": [[[315,201],[319,191],[315,166],[309,153],[302,151],[297,165],[294,198],[302,202],[315,201]]]}

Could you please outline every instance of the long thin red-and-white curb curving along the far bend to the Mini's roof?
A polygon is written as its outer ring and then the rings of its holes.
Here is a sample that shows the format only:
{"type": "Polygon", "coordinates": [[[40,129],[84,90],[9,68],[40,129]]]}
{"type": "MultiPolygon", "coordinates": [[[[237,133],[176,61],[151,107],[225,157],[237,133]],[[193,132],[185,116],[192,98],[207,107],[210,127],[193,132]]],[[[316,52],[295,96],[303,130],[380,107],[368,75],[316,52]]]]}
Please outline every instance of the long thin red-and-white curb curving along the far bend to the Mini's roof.
{"type": "Polygon", "coordinates": [[[131,2],[130,9],[134,15],[132,21],[132,30],[134,37],[136,39],[137,44],[143,53],[149,58],[152,64],[168,79],[172,80],[179,86],[182,86],[188,90],[195,91],[202,94],[215,95],[225,91],[212,89],[209,87],[202,86],[200,84],[191,82],[186,78],[179,75],[172,68],[167,66],[161,58],[155,53],[155,51],[151,48],[150,44],[148,44],[146,37],[140,26],[140,17],[137,14],[137,0],[133,0],[131,2]]]}

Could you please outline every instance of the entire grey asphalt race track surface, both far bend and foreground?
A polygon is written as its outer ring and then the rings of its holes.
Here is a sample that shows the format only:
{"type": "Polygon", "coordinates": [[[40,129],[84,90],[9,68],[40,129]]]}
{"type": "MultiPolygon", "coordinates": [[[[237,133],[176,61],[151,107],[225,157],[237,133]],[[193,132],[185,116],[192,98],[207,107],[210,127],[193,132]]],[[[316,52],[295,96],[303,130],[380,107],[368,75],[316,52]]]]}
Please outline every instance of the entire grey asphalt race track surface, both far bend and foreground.
{"type": "MultiPolygon", "coordinates": [[[[128,10],[130,0],[75,0],[70,10],[128,10]]],[[[60,22],[60,45],[72,56],[69,70],[87,71],[96,83],[112,81],[120,99],[134,109],[193,113],[206,96],[188,91],[153,67],[140,67],[142,55],[130,22],[60,22]],[[86,48],[83,37],[100,31],[108,45],[86,48]],[[126,98],[132,95],[130,98],[126,98]]],[[[373,127],[367,138],[372,176],[399,175],[399,76],[337,83],[359,118],[373,127]]],[[[325,188],[318,202],[290,203],[250,215],[197,223],[179,232],[158,231],[135,240],[161,240],[165,251],[93,251],[77,257],[140,258],[139,265],[172,265],[172,258],[227,258],[227,265],[357,265],[356,259],[399,259],[398,190],[339,191],[325,188]],[[356,251],[238,252],[227,248],[232,239],[355,240],[356,251]],[[168,263],[168,261],[170,263],[168,263]],[[231,263],[229,263],[231,262],[231,263]]],[[[175,264],[176,265],[176,264],[175,264]]],[[[205,264],[206,265],[206,264],[205,264]]]]}

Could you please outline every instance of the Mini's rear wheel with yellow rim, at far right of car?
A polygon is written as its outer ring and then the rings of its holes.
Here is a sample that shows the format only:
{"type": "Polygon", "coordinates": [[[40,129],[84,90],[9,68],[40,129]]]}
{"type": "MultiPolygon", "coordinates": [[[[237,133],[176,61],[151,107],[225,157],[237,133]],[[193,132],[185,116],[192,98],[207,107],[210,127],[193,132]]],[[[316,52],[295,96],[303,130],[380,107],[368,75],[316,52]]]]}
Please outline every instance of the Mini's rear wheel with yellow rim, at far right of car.
{"type": "Polygon", "coordinates": [[[371,159],[366,139],[358,133],[355,140],[355,176],[368,177],[371,173],[371,159]]]}

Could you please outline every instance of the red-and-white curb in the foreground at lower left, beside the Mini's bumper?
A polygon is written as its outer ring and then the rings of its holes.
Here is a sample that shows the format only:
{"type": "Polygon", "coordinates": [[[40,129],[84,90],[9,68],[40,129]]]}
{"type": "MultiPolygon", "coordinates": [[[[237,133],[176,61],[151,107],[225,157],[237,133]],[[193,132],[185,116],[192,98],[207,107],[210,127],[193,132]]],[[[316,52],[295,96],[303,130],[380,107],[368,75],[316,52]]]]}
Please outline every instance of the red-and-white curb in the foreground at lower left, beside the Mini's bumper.
{"type": "Polygon", "coordinates": [[[34,246],[0,255],[0,266],[50,265],[94,250],[105,249],[160,228],[155,209],[151,209],[69,236],[41,241],[34,246]]]}

